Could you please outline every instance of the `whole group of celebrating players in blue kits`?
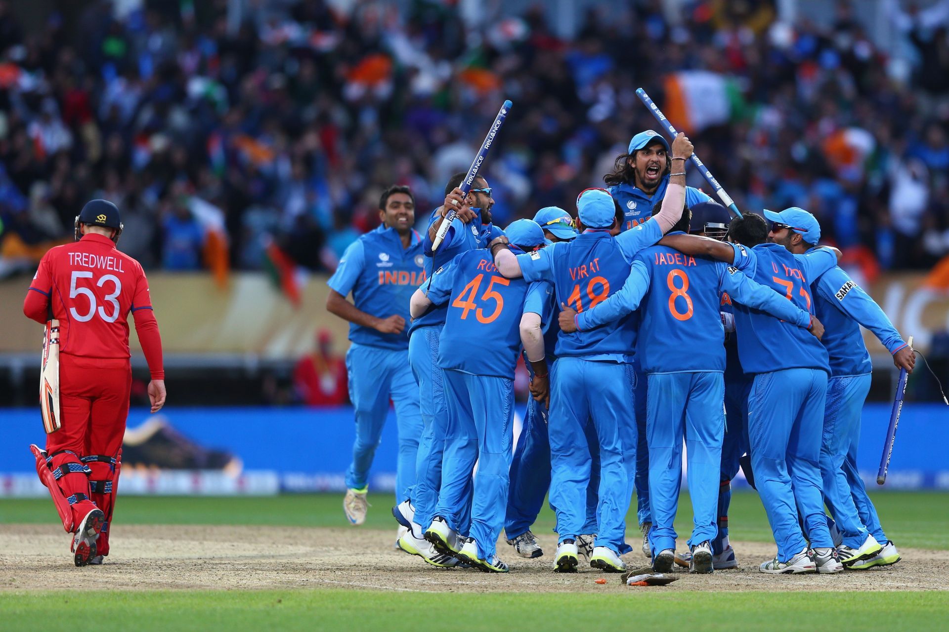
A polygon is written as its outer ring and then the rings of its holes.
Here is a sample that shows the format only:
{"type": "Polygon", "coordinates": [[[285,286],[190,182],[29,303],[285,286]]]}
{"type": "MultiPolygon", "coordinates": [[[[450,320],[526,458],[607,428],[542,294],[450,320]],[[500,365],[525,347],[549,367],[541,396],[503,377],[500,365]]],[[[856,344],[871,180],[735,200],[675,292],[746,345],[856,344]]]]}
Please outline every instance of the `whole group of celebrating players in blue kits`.
{"type": "Polygon", "coordinates": [[[684,135],[670,146],[642,132],[607,189],[580,192],[576,218],[541,208],[503,231],[482,177],[464,194],[465,174],[453,175],[424,235],[408,188],[382,194],[382,226],[328,281],[327,309],[351,323],[352,524],[366,515],[391,399],[397,546],[437,567],[508,571],[495,550],[502,529],[516,554],[541,556],[530,527],[549,494],[553,569],[576,571],[583,558],[621,572],[635,492],[653,569],[736,568],[728,510],[739,468],[777,545],[762,572],[899,561],[856,467],[872,370],[860,326],[899,368],[913,369],[912,350],[838,267],[840,253],[818,245],[813,215],[730,220],[685,186],[691,153],[684,135]],[[521,353],[531,398],[512,449],[521,353]],[[677,552],[683,441],[694,529],[677,552]]]}

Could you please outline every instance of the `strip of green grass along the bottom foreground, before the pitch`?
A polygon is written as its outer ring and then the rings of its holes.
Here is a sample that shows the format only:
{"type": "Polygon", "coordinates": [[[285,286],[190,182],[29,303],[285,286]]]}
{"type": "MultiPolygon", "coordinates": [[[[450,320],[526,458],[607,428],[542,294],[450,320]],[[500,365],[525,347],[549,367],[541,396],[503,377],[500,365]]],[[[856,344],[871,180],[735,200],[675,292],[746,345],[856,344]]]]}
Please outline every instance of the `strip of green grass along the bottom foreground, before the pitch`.
{"type": "Polygon", "coordinates": [[[121,622],[149,630],[944,629],[939,592],[414,593],[335,589],[0,594],[0,629],[121,622]],[[516,617],[516,623],[514,619],[516,617]],[[451,623],[447,623],[450,620],[451,623]],[[41,622],[41,623],[40,623],[41,622]]]}

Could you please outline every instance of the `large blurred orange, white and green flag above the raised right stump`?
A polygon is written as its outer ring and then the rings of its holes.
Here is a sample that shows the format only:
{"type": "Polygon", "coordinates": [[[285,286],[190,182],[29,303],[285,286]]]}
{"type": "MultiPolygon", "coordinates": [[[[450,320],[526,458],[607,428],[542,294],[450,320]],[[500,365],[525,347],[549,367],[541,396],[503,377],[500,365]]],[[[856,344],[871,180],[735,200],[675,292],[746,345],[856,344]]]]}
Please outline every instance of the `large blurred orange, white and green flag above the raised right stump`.
{"type": "Polygon", "coordinates": [[[689,134],[738,117],[744,101],[735,80],[708,70],[666,75],[662,112],[679,131],[689,134]]]}

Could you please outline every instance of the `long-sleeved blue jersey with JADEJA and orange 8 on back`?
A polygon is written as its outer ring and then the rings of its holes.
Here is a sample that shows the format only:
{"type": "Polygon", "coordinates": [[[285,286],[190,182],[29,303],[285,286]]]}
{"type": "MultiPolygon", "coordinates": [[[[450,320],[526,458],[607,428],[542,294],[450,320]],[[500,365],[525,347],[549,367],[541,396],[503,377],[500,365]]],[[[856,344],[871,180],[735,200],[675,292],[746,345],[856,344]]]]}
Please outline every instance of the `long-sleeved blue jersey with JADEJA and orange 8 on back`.
{"type": "Polygon", "coordinates": [[[596,327],[639,306],[642,320],[636,355],[644,372],[724,371],[722,292],[800,326],[810,324],[807,312],[735,267],[656,245],[636,257],[623,289],[578,315],[577,325],[596,327]]]}

